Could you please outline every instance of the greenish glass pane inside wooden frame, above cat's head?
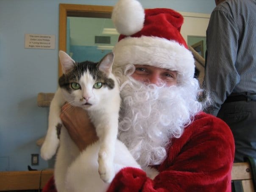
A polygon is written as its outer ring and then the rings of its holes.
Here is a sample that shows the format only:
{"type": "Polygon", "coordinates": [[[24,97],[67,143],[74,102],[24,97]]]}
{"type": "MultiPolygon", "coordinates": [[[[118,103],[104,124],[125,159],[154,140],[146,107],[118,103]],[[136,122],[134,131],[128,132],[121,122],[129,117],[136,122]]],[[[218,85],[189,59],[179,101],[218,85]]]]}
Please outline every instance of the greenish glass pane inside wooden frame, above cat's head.
{"type": "Polygon", "coordinates": [[[118,37],[110,18],[67,17],[67,53],[77,62],[99,61],[118,37]]]}

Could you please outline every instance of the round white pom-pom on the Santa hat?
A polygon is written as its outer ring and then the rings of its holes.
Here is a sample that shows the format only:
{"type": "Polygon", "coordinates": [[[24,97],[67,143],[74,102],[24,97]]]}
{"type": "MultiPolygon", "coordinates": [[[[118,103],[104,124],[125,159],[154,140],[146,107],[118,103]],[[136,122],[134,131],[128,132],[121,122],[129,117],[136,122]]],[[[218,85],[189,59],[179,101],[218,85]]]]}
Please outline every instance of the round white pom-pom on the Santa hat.
{"type": "Polygon", "coordinates": [[[119,0],[112,11],[112,21],[118,31],[130,36],[142,30],[145,12],[137,0],[119,0]]]}

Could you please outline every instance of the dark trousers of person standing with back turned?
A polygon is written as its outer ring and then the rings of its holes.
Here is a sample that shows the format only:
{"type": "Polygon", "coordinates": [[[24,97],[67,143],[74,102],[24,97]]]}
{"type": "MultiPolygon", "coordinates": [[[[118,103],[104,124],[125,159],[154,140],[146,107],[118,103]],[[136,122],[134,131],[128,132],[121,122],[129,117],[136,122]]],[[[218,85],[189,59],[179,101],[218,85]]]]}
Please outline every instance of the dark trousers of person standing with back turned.
{"type": "Polygon", "coordinates": [[[256,101],[223,103],[217,117],[229,125],[234,135],[234,162],[243,162],[244,156],[256,159],[256,101]]]}

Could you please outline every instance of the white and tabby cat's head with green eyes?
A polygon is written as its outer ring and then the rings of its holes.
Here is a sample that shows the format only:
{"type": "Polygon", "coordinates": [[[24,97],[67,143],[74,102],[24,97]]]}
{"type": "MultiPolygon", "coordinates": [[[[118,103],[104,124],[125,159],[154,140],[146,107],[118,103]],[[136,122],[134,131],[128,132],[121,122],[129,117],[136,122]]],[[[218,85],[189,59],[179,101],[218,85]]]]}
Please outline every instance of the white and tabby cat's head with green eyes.
{"type": "MultiPolygon", "coordinates": [[[[67,53],[60,51],[63,75],[59,78],[59,86],[65,90],[64,97],[74,106],[97,106],[106,100],[106,91],[114,89],[111,78],[113,53],[107,54],[100,62],[83,61],[76,63],[67,53]],[[107,88],[107,89],[106,89],[107,88]]],[[[114,76],[112,75],[114,78],[114,76]]]]}

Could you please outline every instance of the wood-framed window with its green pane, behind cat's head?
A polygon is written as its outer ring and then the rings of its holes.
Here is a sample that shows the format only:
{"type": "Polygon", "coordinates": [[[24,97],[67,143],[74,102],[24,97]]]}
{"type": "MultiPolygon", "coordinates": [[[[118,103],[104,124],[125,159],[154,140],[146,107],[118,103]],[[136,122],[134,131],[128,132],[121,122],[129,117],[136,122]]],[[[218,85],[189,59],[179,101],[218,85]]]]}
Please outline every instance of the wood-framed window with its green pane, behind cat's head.
{"type": "MultiPolygon", "coordinates": [[[[59,4],[59,50],[70,54],[75,61],[83,59],[79,51],[88,52],[90,49],[90,56],[92,53],[105,55],[107,50],[111,51],[119,35],[113,31],[111,24],[112,9],[111,6],[59,4]],[[79,28],[74,29],[74,26],[79,28]]],[[[93,58],[86,60],[92,61],[93,58]]],[[[58,61],[58,77],[61,75],[61,64],[58,61]]]]}

